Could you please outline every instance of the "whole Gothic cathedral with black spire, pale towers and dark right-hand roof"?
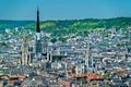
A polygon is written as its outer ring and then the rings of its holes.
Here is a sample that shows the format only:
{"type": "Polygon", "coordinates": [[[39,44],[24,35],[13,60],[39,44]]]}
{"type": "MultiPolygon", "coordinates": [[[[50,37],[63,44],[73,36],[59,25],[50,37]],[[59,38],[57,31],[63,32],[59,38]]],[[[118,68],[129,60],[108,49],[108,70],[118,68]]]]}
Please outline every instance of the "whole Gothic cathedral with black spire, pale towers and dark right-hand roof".
{"type": "Polygon", "coordinates": [[[61,60],[67,55],[61,55],[60,51],[50,50],[48,42],[49,38],[40,32],[40,21],[39,21],[39,9],[37,8],[37,21],[36,21],[36,32],[35,32],[35,42],[33,45],[33,51],[31,51],[31,45],[27,39],[27,35],[23,37],[22,44],[22,59],[21,64],[27,65],[29,63],[39,63],[39,62],[53,62],[56,59],[61,60]]]}

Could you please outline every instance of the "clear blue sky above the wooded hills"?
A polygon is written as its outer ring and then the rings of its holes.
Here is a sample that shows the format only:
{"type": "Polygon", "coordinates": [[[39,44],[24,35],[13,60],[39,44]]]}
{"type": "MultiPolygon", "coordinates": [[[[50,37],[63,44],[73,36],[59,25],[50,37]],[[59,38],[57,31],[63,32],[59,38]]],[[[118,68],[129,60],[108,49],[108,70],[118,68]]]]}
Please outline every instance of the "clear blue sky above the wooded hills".
{"type": "Polygon", "coordinates": [[[0,0],[0,20],[131,17],[131,0],[0,0]]]}

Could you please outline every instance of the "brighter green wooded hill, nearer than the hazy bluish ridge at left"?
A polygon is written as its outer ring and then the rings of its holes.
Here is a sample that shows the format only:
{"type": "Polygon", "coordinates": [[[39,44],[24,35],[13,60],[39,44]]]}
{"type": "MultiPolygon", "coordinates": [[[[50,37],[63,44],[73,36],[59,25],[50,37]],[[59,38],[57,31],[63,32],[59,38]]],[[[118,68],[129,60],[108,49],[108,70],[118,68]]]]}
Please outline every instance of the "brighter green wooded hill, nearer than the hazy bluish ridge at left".
{"type": "MultiPolygon", "coordinates": [[[[40,22],[41,30],[51,33],[52,36],[67,35],[70,33],[82,33],[93,29],[104,30],[105,28],[123,28],[131,26],[131,17],[116,18],[85,18],[85,20],[66,20],[66,21],[45,21],[40,22]]],[[[25,28],[35,29],[36,24],[29,24],[25,28]]]]}

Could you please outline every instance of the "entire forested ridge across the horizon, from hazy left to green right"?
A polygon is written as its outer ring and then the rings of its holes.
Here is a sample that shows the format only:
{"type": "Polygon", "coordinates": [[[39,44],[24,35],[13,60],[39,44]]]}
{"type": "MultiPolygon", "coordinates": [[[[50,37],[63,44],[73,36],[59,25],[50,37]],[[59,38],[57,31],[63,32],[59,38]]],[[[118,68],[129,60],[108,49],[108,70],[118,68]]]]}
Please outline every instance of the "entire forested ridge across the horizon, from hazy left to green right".
{"type": "MultiPolygon", "coordinates": [[[[1,21],[0,29],[23,26],[26,29],[35,29],[35,21],[1,21]]],[[[85,18],[85,20],[64,20],[64,21],[44,21],[40,22],[40,29],[47,33],[75,33],[96,28],[127,28],[131,26],[131,17],[116,18],[85,18]]]]}

